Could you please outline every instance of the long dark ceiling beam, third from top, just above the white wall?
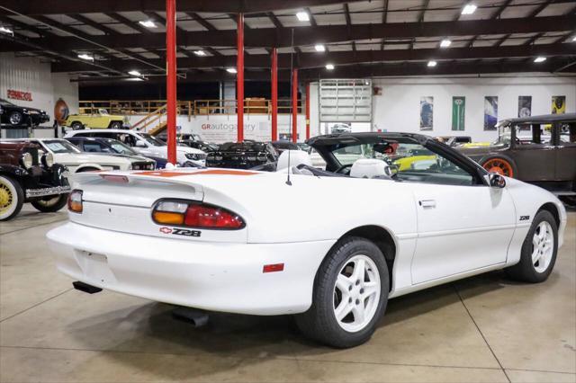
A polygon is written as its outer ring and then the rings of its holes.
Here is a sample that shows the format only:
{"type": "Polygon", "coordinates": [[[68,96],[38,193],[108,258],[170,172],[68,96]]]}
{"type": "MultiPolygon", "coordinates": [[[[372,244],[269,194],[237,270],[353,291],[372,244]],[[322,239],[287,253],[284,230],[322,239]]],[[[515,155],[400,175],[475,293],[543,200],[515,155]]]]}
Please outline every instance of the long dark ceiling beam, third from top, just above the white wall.
{"type": "MultiPolygon", "coordinates": [[[[333,51],[319,54],[317,52],[300,53],[298,65],[300,68],[324,67],[327,62],[334,65],[354,65],[361,63],[381,63],[386,61],[428,61],[435,60],[462,60],[475,58],[531,58],[536,56],[569,57],[576,56],[576,44],[541,44],[541,45],[516,45],[509,47],[476,47],[476,48],[451,48],[451,49],[389,49],[389,50],[356,50],[356,51],[333,51]]],[[[149,60],[157,65],[161,60],[149,60]]],[[[105,61],[104,61],[105,62],[105,61]]],[[[185,68],[209,68],[209,67],[234,67],[236,56],[212,56],[202,58],[179,58],[178,67],[185,68]]],[[[115,59],[107,63],[110,67],[116,67],[121,71],[127,69],[146,69],[134,60],[115,59]]],[[[245,66],[252,68],[267,68],[270,66],[268,55],[250,55],[245,58],[245,66]]],[[[290,67],[290,54],[278,55],[278,67],[290,67]]],[[[82,72],[88,70],[82,63],[54,63],[54,72],[82,72]]]]}

